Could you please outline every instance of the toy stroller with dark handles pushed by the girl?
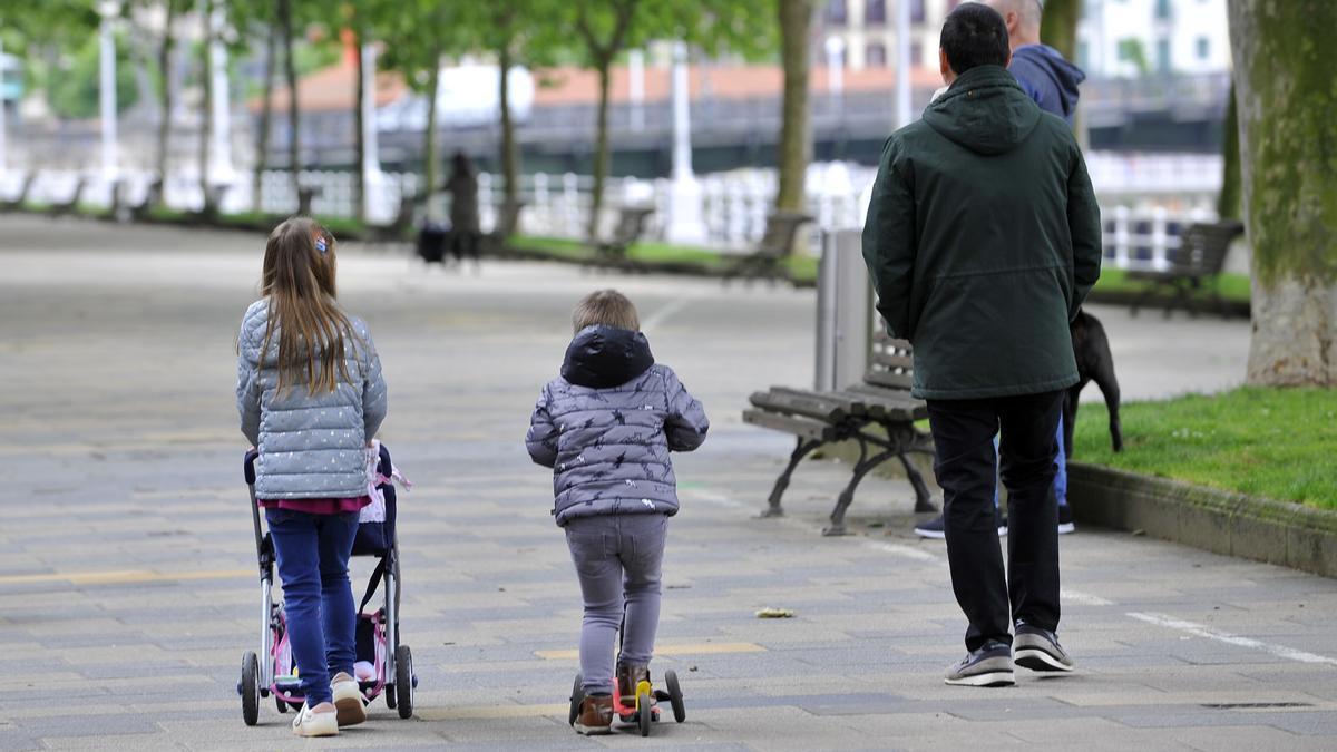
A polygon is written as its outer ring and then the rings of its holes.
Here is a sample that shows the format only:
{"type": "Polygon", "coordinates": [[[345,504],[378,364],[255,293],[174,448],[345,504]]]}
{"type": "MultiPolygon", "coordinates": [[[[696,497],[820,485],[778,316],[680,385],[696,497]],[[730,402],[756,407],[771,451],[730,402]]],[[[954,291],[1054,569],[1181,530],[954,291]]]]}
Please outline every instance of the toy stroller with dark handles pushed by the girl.
{"type": "MultiPolygon", "coordinates": [[[[255,450],[246,452],[246,486],[250,488],[251,519],[255,525],[255,553],[259,557],[261,589],[261,637],[259,656],[247,650],[242,656],[242,678],[237,682],[237,693],[242,697],[242,719],[246,725],[259,720],[261,697],[274,697],[279,713],[289,708],[299,709],[306,698],[302,696],[301,681],[297,677],[291,646],[287,642],[287,624],[283,603],[275,603],[271,597],[274,585],[274,543],[267,531],[261,527],[259,507],[255,503],[255,450]]],[[[408,645],[400,644],[400,558],[398,539],[394,534],[396,495],[394,464],[390,452],[380,446],[376,464],[377,490],[385,498],[384,522],[361,522],[353,541],[354,557],[376,557],[376,570],[366,583],[366,594],[357,607],[357,661],[372,664],[370,677],[358,676],[358,688],[368,700],[376,700],[382,693],[385,704],[398,709],[401,719],[413,715],[413,653],[408,645]],[[381,579],[385,581],[384,605],[374,613],[362,613],[372,601],[381,579]]],[[[358,672],[360,674],[362,672],[358,672]]]]}

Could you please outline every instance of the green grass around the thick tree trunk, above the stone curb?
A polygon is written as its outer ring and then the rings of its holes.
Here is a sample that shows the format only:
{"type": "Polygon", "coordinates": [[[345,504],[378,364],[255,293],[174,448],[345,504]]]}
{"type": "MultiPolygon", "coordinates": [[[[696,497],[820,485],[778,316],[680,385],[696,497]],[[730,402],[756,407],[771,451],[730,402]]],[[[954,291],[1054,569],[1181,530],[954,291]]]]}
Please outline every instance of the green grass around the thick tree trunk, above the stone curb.
{"type": "Polygon", "coordinates": [[[1337,508],[1337,391],[1245,387],[1124,404],[1123,452],[1104,405],[1078,413],[1074,462],[1337,508]]]}

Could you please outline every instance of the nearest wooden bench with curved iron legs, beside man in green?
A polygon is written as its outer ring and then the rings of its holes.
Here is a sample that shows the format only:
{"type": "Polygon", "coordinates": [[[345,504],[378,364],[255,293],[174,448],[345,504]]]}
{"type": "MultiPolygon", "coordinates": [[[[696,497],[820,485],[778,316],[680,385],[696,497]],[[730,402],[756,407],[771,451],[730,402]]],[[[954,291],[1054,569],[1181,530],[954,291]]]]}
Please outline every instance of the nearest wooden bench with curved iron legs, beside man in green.
{"type": "Polygon", "coordinates": [[[928,417],[928,407],[910,396],[912,367],[909,344],[881,335],[873,343],[861,384],[830,392],[771,387],[751,396],[753,407],[743,411],[745,423],[798,438],[789,464],[775,479],[765,516],[783,514],[781,496],[805,456],[818,447],[850,440],[858,443],[858,462],[836,500],[832,525],[822,530],[824,535],[845,534],[845,510],[854,500],[858,483],[892,458],[901,462],[915,487],[915,511],[935,511],[924,476],[908,456],[910,452],[933,454],[931,438],[915,428],[916,420],[928,417]]]}

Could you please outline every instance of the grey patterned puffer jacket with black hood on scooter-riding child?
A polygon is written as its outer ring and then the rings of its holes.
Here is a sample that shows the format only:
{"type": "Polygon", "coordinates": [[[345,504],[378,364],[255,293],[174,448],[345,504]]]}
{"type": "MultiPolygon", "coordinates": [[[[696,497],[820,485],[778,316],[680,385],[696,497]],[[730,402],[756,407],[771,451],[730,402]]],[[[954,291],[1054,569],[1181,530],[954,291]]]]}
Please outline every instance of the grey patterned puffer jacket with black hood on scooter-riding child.
{"type": "Polygon", "coordinates": [[[690,452],[710,421],[640,332],[588,326],[543,388],[525,448],[554,468],[558,525],[608,514],[678,512],[668,451],[690,452]]]}

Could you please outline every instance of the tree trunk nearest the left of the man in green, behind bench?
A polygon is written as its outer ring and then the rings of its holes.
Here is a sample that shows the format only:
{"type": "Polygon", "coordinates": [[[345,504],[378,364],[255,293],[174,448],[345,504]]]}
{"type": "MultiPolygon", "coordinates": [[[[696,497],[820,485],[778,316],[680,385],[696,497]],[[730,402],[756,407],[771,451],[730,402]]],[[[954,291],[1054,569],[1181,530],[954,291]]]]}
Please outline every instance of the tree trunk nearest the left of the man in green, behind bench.
{"type": "Polygon", "coordinates": [[[813,154],[808,122],[809,29],[812,0],[777,0],[781,62],[785,67],[785,100],[779,130],[779,193],[775,207],[804,210],[804,182],[813,154]]]}

